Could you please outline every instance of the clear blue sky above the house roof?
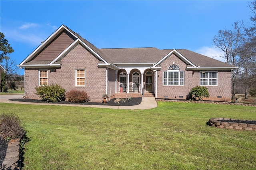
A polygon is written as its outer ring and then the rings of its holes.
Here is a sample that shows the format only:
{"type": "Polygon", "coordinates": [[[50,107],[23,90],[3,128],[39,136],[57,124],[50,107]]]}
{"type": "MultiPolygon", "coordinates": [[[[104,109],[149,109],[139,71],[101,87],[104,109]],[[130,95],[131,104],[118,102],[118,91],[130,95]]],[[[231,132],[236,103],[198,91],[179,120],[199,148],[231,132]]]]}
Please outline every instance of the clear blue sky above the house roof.
{"type": "Polygon", "coordinates": [[[1,0],[0,32],[17,64],[62,24],[98,48],[188,49],[213,57],[221,55],[212,41],[219,30],[250,21],[249,2],[1,0]]]}

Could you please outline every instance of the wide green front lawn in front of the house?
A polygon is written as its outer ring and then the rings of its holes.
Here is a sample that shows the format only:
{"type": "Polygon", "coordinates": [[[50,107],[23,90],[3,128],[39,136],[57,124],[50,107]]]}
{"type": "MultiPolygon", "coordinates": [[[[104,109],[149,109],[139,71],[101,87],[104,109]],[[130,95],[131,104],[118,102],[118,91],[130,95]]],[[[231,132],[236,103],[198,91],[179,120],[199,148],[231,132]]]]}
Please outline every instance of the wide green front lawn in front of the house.
{"type": "Polygon", "coordinates": [[[30,139],[23,170],[256,169],[256,131],[210,118],[256,120],[256,107],[164,103],[150,110],[1,103],[30,139]]]}

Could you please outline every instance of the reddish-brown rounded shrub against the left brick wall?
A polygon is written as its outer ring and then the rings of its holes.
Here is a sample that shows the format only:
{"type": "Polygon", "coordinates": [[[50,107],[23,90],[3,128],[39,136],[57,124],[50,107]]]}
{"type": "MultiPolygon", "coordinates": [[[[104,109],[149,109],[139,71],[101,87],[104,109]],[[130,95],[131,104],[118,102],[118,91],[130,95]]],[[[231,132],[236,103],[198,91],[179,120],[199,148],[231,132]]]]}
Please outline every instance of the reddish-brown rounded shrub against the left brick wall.
{"type": "Polygon", "coordinates": [[[70,102],[84,103],[90,101],[89,96],[85,91],[71,90],[66,93],[66,99],[70,102]]]}

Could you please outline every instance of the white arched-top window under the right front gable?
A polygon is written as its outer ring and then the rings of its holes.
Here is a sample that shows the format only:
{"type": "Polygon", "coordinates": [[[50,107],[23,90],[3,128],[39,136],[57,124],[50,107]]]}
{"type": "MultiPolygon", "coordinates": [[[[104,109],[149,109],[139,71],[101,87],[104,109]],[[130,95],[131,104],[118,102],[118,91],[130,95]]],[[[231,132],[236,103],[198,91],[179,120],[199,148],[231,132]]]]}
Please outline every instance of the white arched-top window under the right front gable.
{"type": "Polygon", "coordinates": [[[163,85],[184,85],[184,71],[177,65],[171,65],[168,71],[163,71],[163,85]]]}

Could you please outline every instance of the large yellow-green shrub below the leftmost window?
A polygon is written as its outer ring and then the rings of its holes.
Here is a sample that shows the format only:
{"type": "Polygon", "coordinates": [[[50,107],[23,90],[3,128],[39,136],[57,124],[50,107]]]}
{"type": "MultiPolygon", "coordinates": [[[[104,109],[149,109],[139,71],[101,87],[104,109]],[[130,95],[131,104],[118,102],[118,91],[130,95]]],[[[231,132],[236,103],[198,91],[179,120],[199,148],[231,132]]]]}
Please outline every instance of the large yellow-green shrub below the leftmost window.
{"type": "Polygon", "coordinates": [[[40,95],[42,101],[58,102],[65,100],[65,89],[58,84],[36,87],[36,94],[40,95]]]}

